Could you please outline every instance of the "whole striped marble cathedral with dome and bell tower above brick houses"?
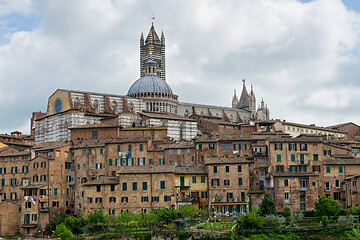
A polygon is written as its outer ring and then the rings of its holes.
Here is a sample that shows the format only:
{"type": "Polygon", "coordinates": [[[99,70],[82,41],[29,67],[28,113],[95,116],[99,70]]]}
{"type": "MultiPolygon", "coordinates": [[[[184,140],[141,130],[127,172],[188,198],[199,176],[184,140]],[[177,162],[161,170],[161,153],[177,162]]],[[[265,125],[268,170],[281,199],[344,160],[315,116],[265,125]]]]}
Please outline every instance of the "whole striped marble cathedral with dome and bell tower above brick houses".
{"type": "Polygon", "coordinates": [[[256,110],[255,93],[248,94],[245,82],[240,99],[232,107],[179,102],[166,83],[165,36],[152,24],[149,34],[140,37],[140,78],[126,95],[77,90],[56,90],[48,100],[46,115],[35,120],[36,143],[70,139],[70,128],[111,121],[122,128],[167,127],[168,137],[190,140],[199,134],[201,119],[231,125],[265,120],[269,111],[262,103],[256,110]]]}

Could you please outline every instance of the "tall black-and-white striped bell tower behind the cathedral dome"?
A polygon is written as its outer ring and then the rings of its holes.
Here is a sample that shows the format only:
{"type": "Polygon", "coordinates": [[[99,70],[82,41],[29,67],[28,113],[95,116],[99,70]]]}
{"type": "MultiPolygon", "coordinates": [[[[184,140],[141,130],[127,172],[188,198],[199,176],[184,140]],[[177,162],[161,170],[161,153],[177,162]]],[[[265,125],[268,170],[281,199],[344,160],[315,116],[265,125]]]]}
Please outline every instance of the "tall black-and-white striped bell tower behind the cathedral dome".
{"type": "Polygon", "coordinates": [[[140,77],[143,77],[146,73],[145,62],[150,58],[150,52],[152,53],[151,58],[156,62],[156,74],[166,81],[164,32],[161,33],[161,39],[159,39],[153,23],[146,40],[144,40],[143,33],[141,33],[140,37],[140,77]]]}

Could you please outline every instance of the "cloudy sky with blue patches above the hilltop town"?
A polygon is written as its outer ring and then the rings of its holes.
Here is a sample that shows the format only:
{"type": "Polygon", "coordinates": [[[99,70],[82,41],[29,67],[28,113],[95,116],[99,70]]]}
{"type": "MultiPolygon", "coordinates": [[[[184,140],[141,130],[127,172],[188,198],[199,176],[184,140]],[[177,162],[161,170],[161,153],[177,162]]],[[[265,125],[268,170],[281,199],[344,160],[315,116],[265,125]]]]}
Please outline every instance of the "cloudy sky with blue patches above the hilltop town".
{"type": "Polygon", "coordinates": [[[0,133],[58,88],[126,94],[152,14],[180,101],[230,106],[246,78],[271,118],[360,124],[360,1],[0,0],[0,133]]]}

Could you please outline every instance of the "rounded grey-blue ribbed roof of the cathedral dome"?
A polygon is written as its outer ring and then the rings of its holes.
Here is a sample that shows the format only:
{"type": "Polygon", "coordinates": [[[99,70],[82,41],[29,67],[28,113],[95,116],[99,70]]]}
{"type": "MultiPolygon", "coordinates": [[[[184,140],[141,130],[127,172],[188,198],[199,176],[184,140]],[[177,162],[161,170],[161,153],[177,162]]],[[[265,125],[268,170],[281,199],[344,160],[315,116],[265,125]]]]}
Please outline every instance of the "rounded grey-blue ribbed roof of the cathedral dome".
{"type": "Polygon", "coordinates": [[[157,75],[145,75],[131,85],[127,95],[137,93],[173,94],[170,86],[157,75]]]}

